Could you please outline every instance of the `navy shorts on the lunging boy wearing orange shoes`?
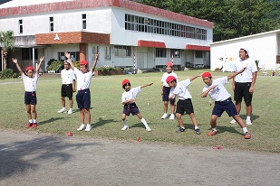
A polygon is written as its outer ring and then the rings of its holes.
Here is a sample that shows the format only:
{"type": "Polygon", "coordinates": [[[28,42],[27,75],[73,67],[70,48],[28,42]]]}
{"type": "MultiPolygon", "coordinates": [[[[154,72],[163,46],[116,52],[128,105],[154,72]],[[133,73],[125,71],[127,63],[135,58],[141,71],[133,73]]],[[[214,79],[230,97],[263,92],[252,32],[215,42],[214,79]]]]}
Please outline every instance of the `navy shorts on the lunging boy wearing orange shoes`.
{"type": "Polygon", "coordinates": [[[218,117],[222,116],[223,112],[226,111],[228,116],[236,116],[237,108],[232,102],[231,98],[227,98],[224,101],[215,101],[215,106],[212,111],[212,115],[218,117]]]}

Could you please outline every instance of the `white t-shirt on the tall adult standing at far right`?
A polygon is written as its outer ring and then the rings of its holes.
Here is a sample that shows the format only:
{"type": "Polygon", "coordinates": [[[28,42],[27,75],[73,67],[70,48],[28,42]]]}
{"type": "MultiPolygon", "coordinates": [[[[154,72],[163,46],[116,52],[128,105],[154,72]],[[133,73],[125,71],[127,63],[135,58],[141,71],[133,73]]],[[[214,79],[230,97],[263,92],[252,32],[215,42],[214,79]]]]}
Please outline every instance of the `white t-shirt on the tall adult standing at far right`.
{"type": "Polygon", "coordinates": [[[252,73],[257,71],[256,62],[254,60],[251,60],[251,58],[247,60],[239,59],[234,62],[234,71],[242,70],[245,67],[246,70],[236,76],[235,78],[236,82],[238,83],[252,82],[252,78],[253,78],[252,73]]]}

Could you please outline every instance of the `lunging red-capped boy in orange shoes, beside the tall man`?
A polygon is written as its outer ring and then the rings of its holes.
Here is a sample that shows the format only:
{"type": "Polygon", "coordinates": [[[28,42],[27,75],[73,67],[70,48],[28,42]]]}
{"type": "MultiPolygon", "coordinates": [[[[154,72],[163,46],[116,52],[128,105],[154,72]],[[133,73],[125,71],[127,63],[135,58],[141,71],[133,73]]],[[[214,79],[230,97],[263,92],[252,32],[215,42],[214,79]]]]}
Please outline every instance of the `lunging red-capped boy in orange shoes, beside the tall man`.
{"type": "Polygon", "coordinates": [[[202,90],[201,97],[206,98],[207,95],[210,96],[215,101],[215,106],[212,111],[212,116],[210,120],[210,125],[212,131],[208,135],[217,135],[217,117],[222,116],[223,112],[226,111],[228,116],[232,116],[239,126],[242,127],[245,134],[245,139],[250,139],[251,135],[248,132],[246,125],[242,118],[237,114],[237,108],[230,98],[230,94],[227,92],[225,85],[228,82],[228,79],[232,79],[237,76],[237,74],[242,73],[246,68],[239,70],[233,74],[228,75],[224,78],[212,79],[212,75],[209,72],[204,72],[202,74],[202,79],[206,86],[202,90]]]}

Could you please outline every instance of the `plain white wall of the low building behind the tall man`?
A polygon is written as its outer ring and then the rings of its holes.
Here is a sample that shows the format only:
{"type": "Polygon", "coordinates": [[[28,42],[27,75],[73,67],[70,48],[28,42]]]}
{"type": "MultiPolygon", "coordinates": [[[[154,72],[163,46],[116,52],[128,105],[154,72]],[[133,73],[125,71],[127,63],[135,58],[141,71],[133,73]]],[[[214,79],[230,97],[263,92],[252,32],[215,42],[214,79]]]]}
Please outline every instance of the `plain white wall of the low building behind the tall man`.
{"type": "Polygon", "coordinates": [[[211,70],[221,68],[223,61],[220,58],[227,57],[233,60],[239,59],[239,49],[247,47],[249,56],[253,60],[259,60],[259,68],[275,70],[277,55],[276,33],[260,34],[254,37],[242,37],[239,39],[211,43],[211,70]]]}

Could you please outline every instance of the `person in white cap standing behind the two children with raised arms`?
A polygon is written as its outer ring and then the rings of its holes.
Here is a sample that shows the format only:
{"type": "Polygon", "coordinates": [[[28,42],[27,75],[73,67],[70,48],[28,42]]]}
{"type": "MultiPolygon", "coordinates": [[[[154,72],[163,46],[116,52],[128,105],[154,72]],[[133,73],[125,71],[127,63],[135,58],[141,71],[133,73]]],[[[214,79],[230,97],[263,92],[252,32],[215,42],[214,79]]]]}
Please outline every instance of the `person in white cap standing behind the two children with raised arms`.
{"type": "Polygon", "coordinates": [[[64,69],[62,70],[62,79],[63,79],[63,85],[62,85],[62,105],[63,108],[57,111],[58,113],[66,112],[65,107],[65,97],[69,98],[69,110],[68,114],[72,114],[72,93],[76,91],[76,85],[75,85],[75,75],[70,69],[70,64],[68,60],[64,60],[64,69]]]}

